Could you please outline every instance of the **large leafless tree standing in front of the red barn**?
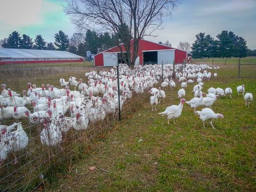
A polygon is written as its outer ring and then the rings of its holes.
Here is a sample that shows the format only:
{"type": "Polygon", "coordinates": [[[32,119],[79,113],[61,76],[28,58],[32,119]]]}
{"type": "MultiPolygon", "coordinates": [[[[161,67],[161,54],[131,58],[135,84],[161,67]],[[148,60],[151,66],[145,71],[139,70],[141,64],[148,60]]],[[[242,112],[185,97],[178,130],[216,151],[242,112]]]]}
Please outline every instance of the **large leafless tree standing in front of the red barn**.
{"type": "Polygon", "coordinates": [[[178,0],[67,0],[67,2],[66,13],[82,30],[91,29],[98,34],[108,32],[118,37],[118,34],[126,33],[124,26],[127,26],[133,41],[127,41],[129,38],[117,38],[116,45],[123,60],[129,66],[133,66],[138,55],[140,39],[161,29],[163,18],[172,14],[178,0]],[[122,43],[126,54],[121,49],[122,43]],[[132,55],[131,47],[133,47],[132,55]]]}

